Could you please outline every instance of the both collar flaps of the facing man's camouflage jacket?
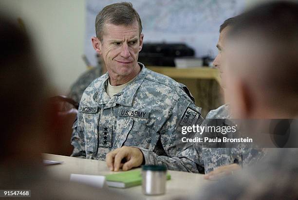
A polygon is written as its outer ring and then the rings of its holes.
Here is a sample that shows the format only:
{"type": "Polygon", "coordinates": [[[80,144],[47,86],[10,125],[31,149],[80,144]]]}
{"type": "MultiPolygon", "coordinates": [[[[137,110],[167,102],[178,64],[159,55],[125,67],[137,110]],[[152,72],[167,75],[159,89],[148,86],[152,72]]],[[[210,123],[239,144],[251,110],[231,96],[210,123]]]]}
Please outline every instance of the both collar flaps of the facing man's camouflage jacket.
{"type": "MultiPolygon", "coordinates": [[[[140,87],[140,85],[143,83],[146,74],[147,69],[146,67],[138,62],[140,67],[142,68],[140,73],[137,75],[137,77],[124,89],[124,91],[119,92],[116,98],[116,103],[123,105],[123,106],[132,106],[132,101],[135,96],[135,92],[140,87]]],[[[99,104],[107,104],[111,98],[106,92],[106,84],[109,79],[109,73],[105,74],[104,81],[102,82],[101,86],[99,87],[99,90],[95,92],[93,95],[94,101],[98,102],[99,104]]]]}

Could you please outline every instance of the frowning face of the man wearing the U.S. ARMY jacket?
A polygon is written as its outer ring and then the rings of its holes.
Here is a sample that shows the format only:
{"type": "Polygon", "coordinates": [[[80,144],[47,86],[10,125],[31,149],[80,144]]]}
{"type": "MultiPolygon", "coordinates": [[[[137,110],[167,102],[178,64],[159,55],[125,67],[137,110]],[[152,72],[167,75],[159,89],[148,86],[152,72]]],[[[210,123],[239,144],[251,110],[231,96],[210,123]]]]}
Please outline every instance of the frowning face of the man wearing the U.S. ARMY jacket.
{"type": "Polygon", "coordinates": [[[106,23],[102,41],[98,42],[98,53],[110,74],[127,76],[138,66],[138,55],[143,45],[138,23],[129,26],[106,23]]]}

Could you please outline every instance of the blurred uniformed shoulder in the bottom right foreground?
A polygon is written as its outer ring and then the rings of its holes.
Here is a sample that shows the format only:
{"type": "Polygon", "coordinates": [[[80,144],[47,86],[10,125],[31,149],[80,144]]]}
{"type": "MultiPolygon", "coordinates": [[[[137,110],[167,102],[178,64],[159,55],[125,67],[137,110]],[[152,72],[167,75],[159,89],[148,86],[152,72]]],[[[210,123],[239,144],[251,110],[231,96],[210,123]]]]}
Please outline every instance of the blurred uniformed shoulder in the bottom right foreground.
{"type": "Polygon", "coordinates": [[[297,158],[297,148],[268,149],[266,158],[258,164],[202,188],[189,199],[297,200],[297,158]]]}

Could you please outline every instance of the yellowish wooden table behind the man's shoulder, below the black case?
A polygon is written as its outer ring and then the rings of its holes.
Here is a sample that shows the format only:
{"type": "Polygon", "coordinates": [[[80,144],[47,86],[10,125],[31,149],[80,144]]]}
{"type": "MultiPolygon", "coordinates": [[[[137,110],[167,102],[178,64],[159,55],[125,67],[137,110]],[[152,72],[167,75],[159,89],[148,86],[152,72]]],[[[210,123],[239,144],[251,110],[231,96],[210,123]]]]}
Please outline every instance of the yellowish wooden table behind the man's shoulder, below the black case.
{"type": "Polygon", "coordinates": [[[220,76],[215,68],[210,67],[158,67],[148,66],[148,69],[167,75],[177,82],[183,83],[196,100],[196,106],[202,108],[203,117],[211,109],[223,105],[220,76]]]}

